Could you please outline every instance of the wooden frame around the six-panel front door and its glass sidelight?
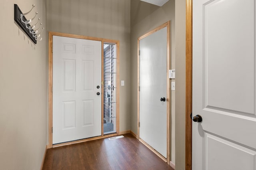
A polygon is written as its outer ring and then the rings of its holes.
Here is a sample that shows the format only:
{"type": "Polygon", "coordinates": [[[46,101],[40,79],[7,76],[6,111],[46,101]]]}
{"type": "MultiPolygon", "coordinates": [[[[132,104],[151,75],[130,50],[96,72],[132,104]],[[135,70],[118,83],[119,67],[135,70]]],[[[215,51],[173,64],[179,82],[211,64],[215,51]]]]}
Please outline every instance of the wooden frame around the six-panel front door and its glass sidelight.
{"type": "MultiPolygon", "coordinates": [[[[95,140],[100,138],[106,138],[110,136],[116,136],[120,134],[119,131],[119,41],[118,40],[110,40],[110,39],[104,39],[104,38],[95,38],[95,37],[89,37],[89,36],[80,36],[75,34],[67,34],[67,33],[60,33],[60,32],[49,32],[49,40],[48,40],[48,145],[47,148],[54,148],[58,146],[64,146],[69,144],[75,144],[80,142],[86,142],[89,140],[95,140]],[[64,142],[61,144],[52,144],[52,51],[53,51],[53,36],[62,36],[62,37],[69,37],[69,38],[79,38],[79,39],[85,39],[85,40],[95,40],[95,41],[101,41],[102,42],[102,68],[104,68],[104,42],[107,43],[114,43],[116,44],[116,133],[114,134],[106,134],[104,135],[104,129],[103,129],[103,114],[104,114],[104,102],[103,102],[103,95],[102,95],[102,119],[101,119],[101,136],[92,137],[92,138],[86,138],[81,140],[75,140],[71,142],[64,142]]],[[[102,82],[104,82],[104,69],[102,69],[102,82]]],[[[102,94],[104,93],[104,88],[102,88],[102,94]]],[[[123,134],[123,133],[122,133],[123,134]]]]}

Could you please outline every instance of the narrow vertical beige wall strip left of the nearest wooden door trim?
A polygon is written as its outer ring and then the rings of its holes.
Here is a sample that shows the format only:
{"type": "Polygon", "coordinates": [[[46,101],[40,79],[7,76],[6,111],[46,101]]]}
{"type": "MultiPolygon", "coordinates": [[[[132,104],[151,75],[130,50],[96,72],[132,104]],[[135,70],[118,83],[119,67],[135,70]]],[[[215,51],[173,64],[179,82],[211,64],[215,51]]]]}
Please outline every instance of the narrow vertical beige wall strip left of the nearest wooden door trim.
{"type": "Polygon", "coordinates": [[[185,109],[186,109],[186,0],[175,1],[175,166],[185,170],[185,109]]]}

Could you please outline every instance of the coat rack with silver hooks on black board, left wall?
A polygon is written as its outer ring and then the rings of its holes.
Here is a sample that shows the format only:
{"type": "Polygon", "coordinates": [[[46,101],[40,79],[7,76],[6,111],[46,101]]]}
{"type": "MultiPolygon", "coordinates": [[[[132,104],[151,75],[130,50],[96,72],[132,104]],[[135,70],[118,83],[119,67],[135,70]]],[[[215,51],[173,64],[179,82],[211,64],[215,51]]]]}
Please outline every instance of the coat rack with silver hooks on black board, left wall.
{"type": "Polygon", "coordinates": [[[26,19],[25,15],[29,14],[35,5],[32,5],[32,9],[26,13],[22,13],[19,6],[14,4],[14,21],[22,28],[22,30],[28,35],[28,37],[36,43],[37,41],[41,41],[42,37],[39,39],[40,34],[44,31],[44,27],[42,27],[42,23],[39,24],[40,18],[38,21],[32,25],[34,19],[36,18],[38,12],[35,13],[35,16],[29,20],[26,19]],[[40,30],[40,31],[39,31],[40,30]]]}

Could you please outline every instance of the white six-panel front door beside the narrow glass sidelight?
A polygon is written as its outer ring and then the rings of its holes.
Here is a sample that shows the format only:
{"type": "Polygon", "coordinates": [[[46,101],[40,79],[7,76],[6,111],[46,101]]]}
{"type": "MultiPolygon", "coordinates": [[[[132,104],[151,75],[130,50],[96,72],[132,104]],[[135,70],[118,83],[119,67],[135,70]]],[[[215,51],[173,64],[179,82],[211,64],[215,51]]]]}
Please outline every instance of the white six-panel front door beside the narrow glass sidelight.
{"type": "Polygon", "coordinates": [[[101,135],[101,51],[100,41],[53,36],[53,144],[101,135]]]}

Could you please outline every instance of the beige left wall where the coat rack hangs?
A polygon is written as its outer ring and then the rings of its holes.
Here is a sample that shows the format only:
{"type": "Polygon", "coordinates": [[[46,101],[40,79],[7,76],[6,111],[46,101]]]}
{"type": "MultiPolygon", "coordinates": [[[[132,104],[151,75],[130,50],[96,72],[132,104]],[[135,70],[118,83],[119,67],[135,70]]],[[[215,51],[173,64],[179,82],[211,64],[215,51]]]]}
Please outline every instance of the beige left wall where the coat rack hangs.
{"type": "Polygon", "coordinates": [[[1,0],[0,169],[38,170],[46,148],[46,32],[32,43],[14,22],[14,4],[22,12],[36,4],[46,26],[44,0],[1,0]]]}

